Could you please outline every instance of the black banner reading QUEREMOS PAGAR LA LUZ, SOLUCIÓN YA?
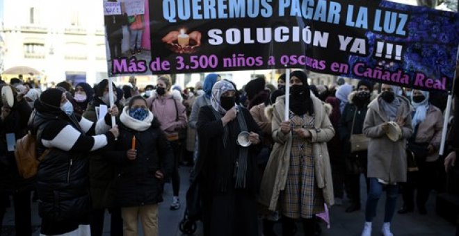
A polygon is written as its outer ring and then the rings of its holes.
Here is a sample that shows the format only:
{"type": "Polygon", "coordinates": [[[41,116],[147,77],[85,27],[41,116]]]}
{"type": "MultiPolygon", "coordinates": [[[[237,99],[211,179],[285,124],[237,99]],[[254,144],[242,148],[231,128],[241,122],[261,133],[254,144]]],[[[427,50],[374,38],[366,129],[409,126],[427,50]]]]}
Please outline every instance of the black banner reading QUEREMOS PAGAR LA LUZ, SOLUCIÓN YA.
{"type": "Polygon", "coordinates": [[[109,74],[287,65],[421,90],[451,90],[457,12],[362,0],[163,0],[150,2],[149,12],[149,60],[115,58],[109,74]]]}

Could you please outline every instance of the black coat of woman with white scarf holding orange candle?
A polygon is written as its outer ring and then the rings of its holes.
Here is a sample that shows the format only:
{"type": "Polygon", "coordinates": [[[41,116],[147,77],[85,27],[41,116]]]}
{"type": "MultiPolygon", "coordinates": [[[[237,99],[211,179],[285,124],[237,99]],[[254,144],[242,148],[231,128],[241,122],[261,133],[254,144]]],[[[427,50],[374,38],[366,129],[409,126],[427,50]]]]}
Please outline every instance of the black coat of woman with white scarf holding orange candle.
{"type": "Polygon", "coordinates": [[[155,204],[163,201],[161,180],[154,176],[161,170],[167,179],[172,172],[172,148],[166,135],[153,119],[152,126],[145,131],[136,131],[118,121],[120,136],[112,150],[104,152],[108,158],[118,163],[115,179],[116,203],[121,207],[155,204]],[[127,159],[132,137],[136,136],[137,158],[127,159]]]}

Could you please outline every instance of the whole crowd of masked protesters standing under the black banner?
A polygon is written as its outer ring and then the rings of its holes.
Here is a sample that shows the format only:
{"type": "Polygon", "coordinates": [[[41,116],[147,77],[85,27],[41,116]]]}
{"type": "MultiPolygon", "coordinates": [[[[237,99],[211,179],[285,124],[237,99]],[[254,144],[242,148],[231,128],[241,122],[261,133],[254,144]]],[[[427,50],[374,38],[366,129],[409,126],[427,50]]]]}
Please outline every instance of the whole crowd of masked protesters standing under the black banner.
{"type": "MultiPolygon", "coordinates": [[[[444,171],[444,110],[426,91],[370,81],[351,85],[343,78],[309,85],[300,70],[290,78],[282,74],[277,87],[260,77],[241,89],[218,74],[184,90],[168,76],[139,88],[131,76],[129,85],[113,84],[113,97],[107,79],[94,86],[63,81],[45,91],[33,81],[1,82],[12,88],[15,105],[1,106],[0,222],[12,196],[17,235],[32,235],[31,198],[38,199],[40,235],[102,235],[106,210],[111,235],[138,235],[139,219],[145,235],[158,235],[164,185],[172,185],[166,201],[178,210],[185,202],[179,166],[189,165],[204,235],[257,235],[259,218],[266,236],[276,235],[277,221],[282,235],[295,235],[297,221],[305,235],[320,235],[325,208],[347,197],[346,212],[361,210],[363,174],[362,236],[371,235],[383,189],[381,233],[388,236],[395,212],[416,206],[428,214],[426,201],[444,171]],[[395,140],[392,126],[399,128],[395,140]],[[7,136],[19,140],[26,133],[46,155],[35,178],[24,179],[7,136]],[[367,148],[353,149],[357,136],[367,138],[367,148]],[[424,153],[414,157],[414,169],[407,149],[424,153]],[[403,207],[397,211],[399,193],[403,207]]],[[[456,160],[451,146],[446,170],[456,160]]]]}

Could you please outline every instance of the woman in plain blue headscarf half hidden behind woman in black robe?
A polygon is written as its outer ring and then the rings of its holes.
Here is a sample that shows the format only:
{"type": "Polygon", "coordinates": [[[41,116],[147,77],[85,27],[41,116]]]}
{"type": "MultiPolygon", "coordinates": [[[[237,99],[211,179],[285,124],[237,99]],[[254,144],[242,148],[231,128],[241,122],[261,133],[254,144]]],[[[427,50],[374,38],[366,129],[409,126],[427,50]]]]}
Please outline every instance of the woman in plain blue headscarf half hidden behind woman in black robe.
{"type": "MultiPolygon", "coordinates": [[[[202,106],[208,106],[211,104],[210,99],[212,87],[214,87],[214,84],[220,80],[220,76],[214,73],[208,74],[206,78],[204,78],[204,85],[202,86],[204,94],[202,94],[202,96],[198,96],[198,98],[195,100],[195,103],[193,103],[193,107],[191,108],[190,120],[188,121],[188,126],[190,126],[190,128],[196,129],[196,123],[198,123],[198,112],[202,106]]],[[[196,136],[195,147],[198,146],[198,136],[196,136]]],[[[194,162],[196,162],[196,159],[198,158],[198,150],[198,148],[195,148],[195,152],[193,153],[194,162]]]]}

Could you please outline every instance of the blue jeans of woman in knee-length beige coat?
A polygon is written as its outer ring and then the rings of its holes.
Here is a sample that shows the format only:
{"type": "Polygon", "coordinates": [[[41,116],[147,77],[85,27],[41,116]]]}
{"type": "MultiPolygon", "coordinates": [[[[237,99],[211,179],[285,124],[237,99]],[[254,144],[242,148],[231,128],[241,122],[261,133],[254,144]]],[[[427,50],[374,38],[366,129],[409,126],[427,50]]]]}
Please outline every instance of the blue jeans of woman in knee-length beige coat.
{"type": "Polygon", "coordinates": [[[378,182],[377,178],[369,178],[370,192],[367,199],[367,208],[365,209],[365,221],[373,221],[376,216],[376,208],[378,207],[378,200],[383,194],[383,187],[386,187],[386,205],[384,222],[389,223],[394,217],[395,207],[398,196],[398,185],[383,185],[378,182]]]}

